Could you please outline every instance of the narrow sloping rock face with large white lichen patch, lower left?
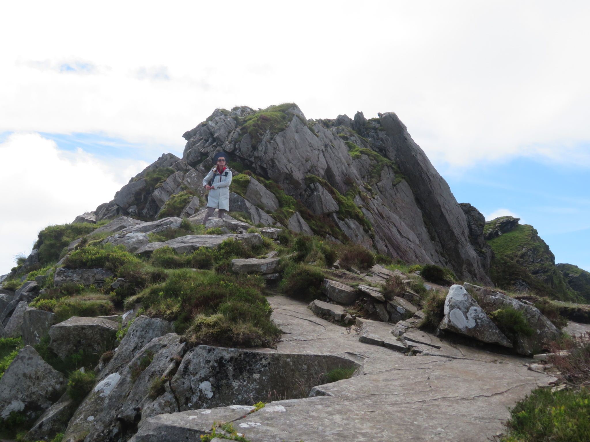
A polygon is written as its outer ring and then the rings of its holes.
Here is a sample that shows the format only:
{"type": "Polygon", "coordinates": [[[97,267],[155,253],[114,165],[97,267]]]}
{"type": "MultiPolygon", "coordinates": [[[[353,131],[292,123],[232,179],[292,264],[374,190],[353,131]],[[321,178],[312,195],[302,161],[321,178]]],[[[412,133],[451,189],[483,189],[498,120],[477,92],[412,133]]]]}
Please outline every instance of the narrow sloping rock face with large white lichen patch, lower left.
{"type": "MultiPolygon", "coordinates": [[[[120,428],[116,423],[117,413],[134,387],[130,365],[136,365],[137,359],[134,361],[134,358],[145,356],[143,349],[152,339],[172,332],[173,325],[170,322],[148,316],[139,316],[130,325],[113,359],[97,375],[96,386],[84,398],[68,423],[64,442],[74,442],[86,437],[88,441],[110,441],[117,434],[120,437],[120,428]]],[[[155,354],[165,344],[166,342],[160,342],[159,348],[154,348],[155,354]]],[[[149,388],[149,385],[141,388],[149,388]]]]}

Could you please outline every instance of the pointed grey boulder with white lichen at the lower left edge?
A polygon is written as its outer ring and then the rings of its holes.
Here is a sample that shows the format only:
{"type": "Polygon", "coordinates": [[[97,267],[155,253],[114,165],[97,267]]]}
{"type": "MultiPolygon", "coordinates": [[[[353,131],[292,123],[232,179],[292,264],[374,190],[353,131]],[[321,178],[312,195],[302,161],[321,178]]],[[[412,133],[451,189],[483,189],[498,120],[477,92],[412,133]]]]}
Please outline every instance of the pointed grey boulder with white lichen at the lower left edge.
{"type": "Polygon", "coordinates": [[[0,378],[0,418],[17,411],[32,424],[61,397],[66,385],[67,378],[27,345],[0,378]]]}

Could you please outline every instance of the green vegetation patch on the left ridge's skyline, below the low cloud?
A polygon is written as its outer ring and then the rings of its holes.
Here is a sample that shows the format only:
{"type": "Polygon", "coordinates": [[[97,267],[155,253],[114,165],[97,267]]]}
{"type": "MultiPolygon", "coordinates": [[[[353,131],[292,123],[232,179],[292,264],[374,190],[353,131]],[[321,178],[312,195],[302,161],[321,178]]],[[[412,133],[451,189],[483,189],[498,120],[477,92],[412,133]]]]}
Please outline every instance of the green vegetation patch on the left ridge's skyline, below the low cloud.
{"type": "Polygon", "coordinates": [[[35,249],[39,249],[39,261],[41,265],[47,265],[59,260],[65,255],[65,248],[70,243],[82,236],[88,235],[96,230],[105,222],[90,224],[62,224],[57,226],[47,226],[38,234],[35,249]]]}

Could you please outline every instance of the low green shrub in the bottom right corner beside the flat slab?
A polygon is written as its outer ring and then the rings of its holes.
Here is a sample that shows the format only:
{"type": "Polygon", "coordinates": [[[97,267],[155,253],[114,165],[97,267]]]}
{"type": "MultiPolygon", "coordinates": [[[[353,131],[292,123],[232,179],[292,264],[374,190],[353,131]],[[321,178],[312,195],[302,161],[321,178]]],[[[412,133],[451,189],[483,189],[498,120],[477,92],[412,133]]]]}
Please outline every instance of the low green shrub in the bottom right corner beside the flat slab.
{"type": "Polygon", "coordinates": [[[587,442],[590,392],[537,388],[510,410],[502,442],[587,442]]]}

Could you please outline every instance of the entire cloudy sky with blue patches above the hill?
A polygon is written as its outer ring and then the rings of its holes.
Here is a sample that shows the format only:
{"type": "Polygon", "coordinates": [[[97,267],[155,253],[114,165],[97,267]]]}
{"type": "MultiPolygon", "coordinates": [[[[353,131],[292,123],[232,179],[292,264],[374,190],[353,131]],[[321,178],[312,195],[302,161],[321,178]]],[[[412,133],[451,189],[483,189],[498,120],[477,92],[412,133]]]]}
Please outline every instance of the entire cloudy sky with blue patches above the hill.
{"type": "Polygon", "coordinates": [[[217,107],[394,111],[458,202],[590,271],[590,4],[0,4],[0,275],[217,107]]]}

